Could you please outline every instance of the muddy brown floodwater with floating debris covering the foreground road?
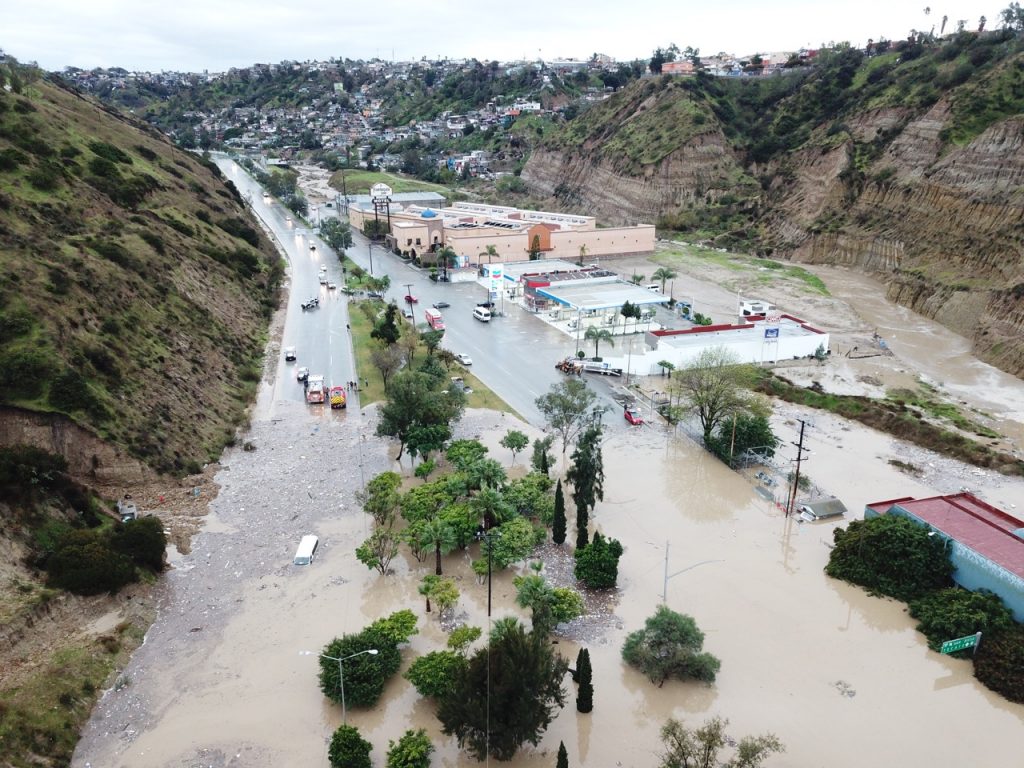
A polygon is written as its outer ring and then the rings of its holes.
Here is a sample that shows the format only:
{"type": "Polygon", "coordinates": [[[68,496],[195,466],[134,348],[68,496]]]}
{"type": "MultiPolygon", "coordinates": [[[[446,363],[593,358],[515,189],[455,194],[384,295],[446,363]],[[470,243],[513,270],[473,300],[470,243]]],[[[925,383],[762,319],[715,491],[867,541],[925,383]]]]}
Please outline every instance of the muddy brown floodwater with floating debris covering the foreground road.
{"type": "MultiPolygon", "coordinates": [[[[279,402],[264,413],[274,419],[254,422],[249,439],[257,450],[225,457],[213,515],[166,580],[160,618],[125,672],[131,683],[99,702],[74,765],[326,766],[341,712],[319,692],[316,659],[301,651],[406,607],[420,616],[420,634],[402,652],[403,669],[442,645],[436,614],[424,612],[417,594],[428,564],[402,555],[382,579],[354,558],[369,522],[354,504],[358,412],[316,415],[279,402]],[[322,551],[312,566],[295,567],[291,557],[306,532],[321,537],[322,551]]],[[[470,412],[459,433],[496,445],[512,424],[470,412]]],[[[835,445],[843,458],[826,458],[827,443],[822,438],[816,457],[822,472],[836,469],[826,463],[849,462],[835,445]]],[[[366,477],[389,465],[377,438],[361,447],[366,477]]],[[[512,765],[550,766],[562,740],[572,765],[654,766],[667,717],[699,724],[713,715],[730,719],[734,737],[776,733],[786,753],[769,766],[978,765],[981,754],[989,765],[1019,760],[1024,707],[987,692],[970,664],[929,651],[901,604],[822,573],[833,524],[785,519],[664,427],[616,432],[604,451],[606,498],[594,520],[626,554],[613,621],[588,639],[595,709],[575,712],[566,677],[566,708],[512,765]],[[669,606],[696,618],[706,649],[722,660],[713,686],[657,688],[620,657],[626,634],[662,599],[666,542],[670,573],[716,561],[667,588],[669,606]]],[[[497,446],[492,455],[510,463],[497,446]]],[[[849,482],[867,501],[928,492],[868,466],[849,482]]],[[[463,618],[486,627],[486,588],[472,575],[470,555],[449,556],[445,572],[459,580],[463,618]]],[[[495,577],[496,618],[521,614],[512,575],[495,577]]],[[[577,642],[561,638],[558,647],[574,662],[577,642]]],[[[400,677],[376,709],[350,710],[348,719],[373,742],[375,765],[384,765],[389,739],[418,727],[437,748],[434,766],[478,764],[440,733],[433,706],[400,677]]]]}

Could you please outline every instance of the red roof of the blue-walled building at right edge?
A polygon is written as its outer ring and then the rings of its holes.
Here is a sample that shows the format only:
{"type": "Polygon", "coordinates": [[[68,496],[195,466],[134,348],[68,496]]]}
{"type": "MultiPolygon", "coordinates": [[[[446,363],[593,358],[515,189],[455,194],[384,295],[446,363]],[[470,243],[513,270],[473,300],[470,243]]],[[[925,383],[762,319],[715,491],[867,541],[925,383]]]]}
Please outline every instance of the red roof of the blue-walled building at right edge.
{"type": "Polygon", "coordinates": [[[880,514],[900,507],[966,547],[1024,579],[1024,521],[972,494],[893,499],[867,505],[880,514]]]}

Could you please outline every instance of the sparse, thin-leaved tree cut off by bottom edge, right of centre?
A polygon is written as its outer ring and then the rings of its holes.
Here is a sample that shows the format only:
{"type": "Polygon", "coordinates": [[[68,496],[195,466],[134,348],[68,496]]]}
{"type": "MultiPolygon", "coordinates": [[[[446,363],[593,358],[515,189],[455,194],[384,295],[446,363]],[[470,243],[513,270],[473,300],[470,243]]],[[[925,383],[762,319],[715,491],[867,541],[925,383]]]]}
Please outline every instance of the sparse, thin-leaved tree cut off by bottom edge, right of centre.
{"type": "Polygon", "coordinates": [[[785,752],[782,742],[771,733],[763,736],[744,736],[735,744],[735,756],[720,762],[718,753],[726,744],[733,744],[725,733],[728,720],[712,718],[700,728],[690,729],[670,718],[662,726],[660,768],[758,768],[775,753],[785,752]]]}

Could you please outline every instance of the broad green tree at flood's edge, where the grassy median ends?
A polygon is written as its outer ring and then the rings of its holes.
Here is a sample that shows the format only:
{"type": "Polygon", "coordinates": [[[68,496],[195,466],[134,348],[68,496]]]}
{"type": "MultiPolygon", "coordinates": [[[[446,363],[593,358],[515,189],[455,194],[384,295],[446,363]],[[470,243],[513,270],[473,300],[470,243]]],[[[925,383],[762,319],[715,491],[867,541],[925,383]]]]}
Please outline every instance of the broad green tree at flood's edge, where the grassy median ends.
{"type": "Polygon", "coordinates": [[[398,439],[398,460],[418,427],[450,426],[462,415],[466,399],[461,393],[437,391],[430,376],[417,371],[396,374],[380,410],[377,434],[398,439]]]}

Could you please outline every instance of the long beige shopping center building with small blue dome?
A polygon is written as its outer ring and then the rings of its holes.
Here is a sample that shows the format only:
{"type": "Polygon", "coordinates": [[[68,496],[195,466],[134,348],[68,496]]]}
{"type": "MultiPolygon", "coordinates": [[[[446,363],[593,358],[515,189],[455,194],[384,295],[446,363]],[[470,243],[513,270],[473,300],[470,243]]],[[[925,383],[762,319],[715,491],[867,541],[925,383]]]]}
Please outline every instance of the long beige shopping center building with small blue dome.
{"type": "Polygon", "coordinates": [[[535,246],[542,258],[566,261],[579,261],[581,252],[584,259],[593,261],[654,251],[653,224],[599,227],[594,216],[509,206],[455,203],[434,209],[392,204],[388,214],[375,211],[373,204],[353,203],[348,217],[359,229],[368,220],[388,219],[388,246],[427,264],[432,263],[433,251],[441,246],[456,252],[460,266],[522,261],[535,246]],[[494,246],[496,256],[486,255],[488,246],[494,246]]]}

